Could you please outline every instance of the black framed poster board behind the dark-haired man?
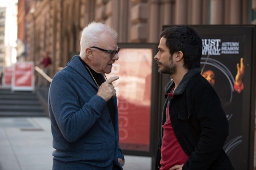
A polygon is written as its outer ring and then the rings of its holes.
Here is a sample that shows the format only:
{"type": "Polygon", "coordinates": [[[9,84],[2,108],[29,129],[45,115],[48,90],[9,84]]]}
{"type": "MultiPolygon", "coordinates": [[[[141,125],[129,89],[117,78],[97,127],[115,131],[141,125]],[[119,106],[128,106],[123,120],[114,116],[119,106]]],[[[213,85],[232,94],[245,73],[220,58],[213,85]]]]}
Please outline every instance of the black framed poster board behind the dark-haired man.
{"type": "Polygon", "coordinates": [[[253,169],[250,156],[254,153],[254,26],[193,27],[203,39],[202,75],[214,87],[229,120],[229,136],[223,149],[235,169],[253,169]],[[244,75],[238,71],[243,65],[244,75]],[[237,86],[239,75],[242,84],[237,86]]]}

